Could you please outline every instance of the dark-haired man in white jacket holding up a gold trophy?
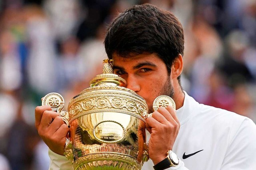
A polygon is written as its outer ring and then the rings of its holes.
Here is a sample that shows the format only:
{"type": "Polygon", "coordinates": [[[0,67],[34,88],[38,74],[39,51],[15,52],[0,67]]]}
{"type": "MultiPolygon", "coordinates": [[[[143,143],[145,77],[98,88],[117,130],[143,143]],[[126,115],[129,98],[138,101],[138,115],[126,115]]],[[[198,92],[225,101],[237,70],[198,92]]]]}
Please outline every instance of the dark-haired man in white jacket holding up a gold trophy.
{"type": "MultiPolygon", "coordinates": [[[[110,25],[105,49],[114,60],[114,73],[146,100],[150,113],[157,96],[170,96],[176,103],[176,111],[160,107],[146,120],[151,160],[142,169],[256,168],[256,125],[235,113],[198,104],[182,91],[184,35],[172,13],[149,4],[133,6],[110,25]]],[[[48,106],[36,107],[35,116],[38,133],[50,149],[50,169],[72,169],[62,156],[67,125],[48,106]]]]}

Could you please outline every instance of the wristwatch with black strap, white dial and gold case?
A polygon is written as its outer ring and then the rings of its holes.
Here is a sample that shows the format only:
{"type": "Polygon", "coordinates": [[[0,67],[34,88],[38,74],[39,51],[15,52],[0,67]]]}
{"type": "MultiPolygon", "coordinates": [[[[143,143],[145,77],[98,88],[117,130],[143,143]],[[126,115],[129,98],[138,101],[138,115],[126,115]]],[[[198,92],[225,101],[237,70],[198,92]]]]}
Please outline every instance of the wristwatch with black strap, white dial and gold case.
{"type": "Polygon", "coordinates": [[[178,156],[172,150],[168,150],[165,159],[153,166],[153,168],[154,170],[165,170],[171,166],[177,166],[179,162],[178,156]]]}

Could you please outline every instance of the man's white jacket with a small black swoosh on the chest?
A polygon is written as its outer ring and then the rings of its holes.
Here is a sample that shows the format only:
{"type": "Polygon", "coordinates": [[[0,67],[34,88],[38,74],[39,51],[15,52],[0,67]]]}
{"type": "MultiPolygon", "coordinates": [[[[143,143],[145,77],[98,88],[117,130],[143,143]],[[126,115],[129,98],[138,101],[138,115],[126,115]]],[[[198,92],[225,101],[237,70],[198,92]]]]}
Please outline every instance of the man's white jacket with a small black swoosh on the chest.
{"type": "MultiPolygon", "coordinates": [[[[180,164],[167,170],[255,170],[256,125],[251,119],[199,104],[186,92],[184,105],[176,112],[180,131],[173,151],[180,164]],[[188,155],[199,150],[202,151],[182,158],[184,152],[188,155]]],[[[53,161],[50,170],[72,169],[64,156],[49,153],[53,161]]],[[[142,170],[153,170],[153,166],[149,160],[142,170]]]]}

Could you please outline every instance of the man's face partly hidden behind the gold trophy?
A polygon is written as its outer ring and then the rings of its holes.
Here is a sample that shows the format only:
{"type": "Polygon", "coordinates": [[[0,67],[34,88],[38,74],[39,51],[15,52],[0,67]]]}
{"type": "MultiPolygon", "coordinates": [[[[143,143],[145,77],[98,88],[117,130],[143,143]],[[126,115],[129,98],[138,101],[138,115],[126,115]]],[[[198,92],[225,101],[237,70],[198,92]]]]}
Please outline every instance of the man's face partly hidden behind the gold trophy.
{"type": "Polygon", "coordinates": [[[156,54],[142,53],[134,57],[118,57],[115,53],[114,74],[126,80],[129,88],[144,98],[152,113],[154,99],[160,95],[172,97],[174,88],[166,65],[156,54]]]}

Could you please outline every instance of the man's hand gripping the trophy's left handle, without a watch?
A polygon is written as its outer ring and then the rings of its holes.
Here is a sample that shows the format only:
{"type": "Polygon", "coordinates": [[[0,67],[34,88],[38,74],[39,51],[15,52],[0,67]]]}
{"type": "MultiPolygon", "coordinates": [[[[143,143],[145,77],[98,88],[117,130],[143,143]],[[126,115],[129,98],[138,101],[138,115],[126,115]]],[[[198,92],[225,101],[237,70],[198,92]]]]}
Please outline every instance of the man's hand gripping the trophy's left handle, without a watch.
{"type": "Polygon", "coordinates": [[[37,106],[35,109],[35,125],[44,143],[57,154],[64,155],[68,125],[50,106],[37,106]]]}

